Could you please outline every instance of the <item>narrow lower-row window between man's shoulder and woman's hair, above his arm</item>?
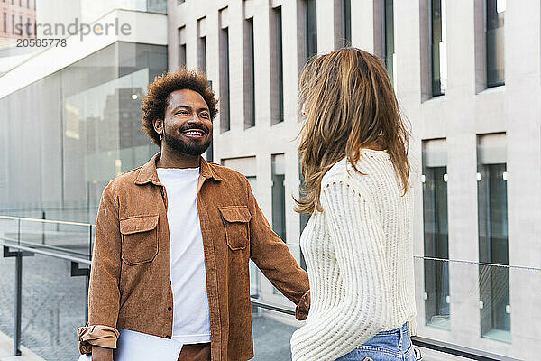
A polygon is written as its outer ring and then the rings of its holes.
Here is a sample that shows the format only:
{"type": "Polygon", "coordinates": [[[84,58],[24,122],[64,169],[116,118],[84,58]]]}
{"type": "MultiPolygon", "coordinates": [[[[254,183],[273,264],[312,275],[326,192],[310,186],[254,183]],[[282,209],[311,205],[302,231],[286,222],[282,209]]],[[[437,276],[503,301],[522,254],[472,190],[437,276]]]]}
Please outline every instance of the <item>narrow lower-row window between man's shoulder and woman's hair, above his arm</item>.
{"type": "Polygon", "coordinates": [[[284,154],[272,155],[272,229],[286,239],[286,164],[284,154]]]}

